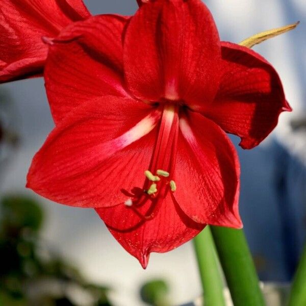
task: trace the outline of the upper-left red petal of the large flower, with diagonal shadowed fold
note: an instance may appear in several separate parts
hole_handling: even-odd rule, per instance
[[[44,77],[56,122],[89,98],[127,96],[122,87],[121,42],[126,20],[94,16],[71,24],[51,41]]]

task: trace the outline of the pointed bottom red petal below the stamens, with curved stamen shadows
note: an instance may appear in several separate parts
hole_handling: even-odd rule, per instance
[[[147,202],[141,212],[149,209]],[[96,209],[118,242],[146,268],[150,252],[167,252],[196,236],[205,224],[188,218],[170,193],[160,203],[154,217],[143,221],[124,205]]]

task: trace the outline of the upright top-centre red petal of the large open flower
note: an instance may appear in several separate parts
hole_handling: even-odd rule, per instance
[[[137,97],[209,103],[218,88],[220,41],[200,0],[157,0],[141,6],[127,26],[124,72]]]

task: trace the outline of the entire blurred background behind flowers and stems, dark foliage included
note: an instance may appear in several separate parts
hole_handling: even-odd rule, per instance
[[[135,0],[84,2],[92,14],[129,15],[137,9]],[[259,275],[263,281],[287,283],[306,236],[306,2],[205,3],[221,39],[232,42],[301,21],[296,30],[254,47],[281,75],[294,111],[281,115],[277,129],[259,147],[246,151],[237,146],[240,210]],[[32,290],[30,305],[41,305],[41,298],[53,305],[54,296],[56,305],[74,305],[71,292],[78,292],[84,305],[141,306],[143,299],[152,299],[146,293],[150,286],[167,295],[171,305],[200,295],[190,243],[151,254],[144,271],[93,210],[61,206],[25,189],[31,160],[53,126],[42,79],[0,85],[0,299],[8,290],[19,296],[20,304],[13,305],[23,306],[20,280],[32,288],[37,287],[34,278],[40,279],[43,296]],[[239,140],[232,139],[238,145]],[[155,282],[142,288],[141,299],[141,286],[151,280]]]

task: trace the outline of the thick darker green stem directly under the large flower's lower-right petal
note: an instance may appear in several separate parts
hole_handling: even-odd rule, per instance
[[[217,226],[211,231],[234,305],[265,305],[243,231]]]

